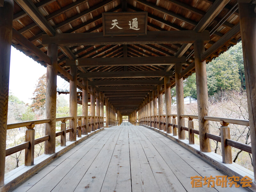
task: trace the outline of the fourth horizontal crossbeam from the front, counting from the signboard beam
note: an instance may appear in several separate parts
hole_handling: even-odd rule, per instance
[[[89,86],[91,85],[157,85],[164,84],[164,81],[159,81],[155,79],[139,79],[139,80],[117,80],[117,81],[90,81]]]

